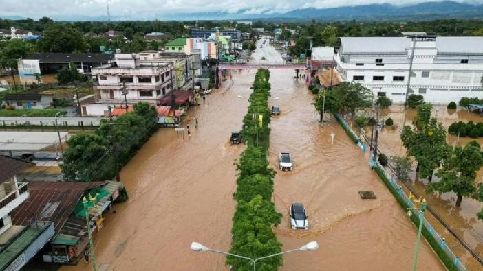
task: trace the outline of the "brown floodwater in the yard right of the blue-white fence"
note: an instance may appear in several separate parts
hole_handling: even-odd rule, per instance
[[[400,127],[402,127],[403,108],[401,105],[391,106],[389,109],[381,110],[382,119],[391,117],[396,124],[395,129],[384,129],[380,133],[379,146],[380,150],[385,154],[390,155],[405,155],[405,148],[400,141]],[[475,123],[482,122],[483,118],[479,114],[469,113],[467,110],[447,110],[446,106],[433,106],[432,117],[436,117],[442,123],[444,128],[449,128],[451,123],[455,121],[473,121]],[[411,125],[412,119],[416,116],[416,110],[408,110],[406,117],[406,125]],[[366,128],[370,136],[370,128]],[[447,136],[449,145],[466,145],[470,141],[476,140],[480,145],[483,143],[483,138],[471,139],[464,137],[457,139],[453,135]],[[416,165],[414,165],[415,167]],[[413,172],[412,178],[414,180],[415,174]],[[433,181],[438,181],[436,176]],[[483,182],[483,169],[477,172],[476,183]],[[427,195],[425,189],[427,187],[427,180],[420,180],[417,182],[407,182],[407,185],[412,187],[419,195],[425,196],[429,207],[437,213],[439,217],[449,224],[450,228],[464,240],[470,248],[472,248],[477,255],[483,257],[483,221],[477,219],[477,213],[483,209],[483,203],[473,200],[472,198],[464,198],[461,207],[455,207],[456,195],[455,193],[444,193],[439,195],[434,193]],[[451,247],[453,252],[460,257],[466,268],[469,270],[482,269],[479,263],[472,255],[467,252],[459,241],[457,241],[451,233],[449,233],[435,217],[428,214],[428,220],[433,224],[438,233],[447,239],[447,244]]]

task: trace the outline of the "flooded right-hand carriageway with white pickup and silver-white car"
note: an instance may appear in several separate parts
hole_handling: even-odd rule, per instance
[[[254,56],[280,61],[266,45]],[[275,204],[283,214],[275,231],[283,250],[308,241],[318,241],[320,248],[285,255],[281,270],[409,270],[416,228],[341,126],[333,121],[319,125],[312,94],[294,75],[270,71],[269,104],[281,109],[270,123],[270,165],[277,169],[279,152],[290,152],[294,159],[292,172],[277,170],[275,176]],[[336,134],[334,145],[331,132]],[[372,190],[378,198],[362,200],[359,190]],[[290,228],[288,209],[294,202],[308,211],[307,231]],[[418,270],[444,270],[422,244]]]

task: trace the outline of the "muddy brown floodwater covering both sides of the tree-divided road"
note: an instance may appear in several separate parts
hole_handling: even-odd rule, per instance
[[[272,47],[254,58],[280,60]],[[230,145],[241,128],[255,71],[234,74],[234,82],[208,95],[209,107],[197,107],[200,127],[191,122],[191,138],[177,139],[173,129],[156,132],[122,169],[130,198],[114,207],[96,237],[100,270],[228,270],[225,257],[193,252],[191,241],[230,248],[235,211],[235,166],[244,145]],[[270,104],[281,108],[272,119],[270,164],[277,153],[291,152],[293,172],[278,172],[274,200],[283,213],[275,228],[283,249],[318,241],[314,252],[284,256],[281,270],[409,270],[416,228],[397,205],[356,146],[336,123],[317,122],[312,95],[294,71],[271,71]],[[276,99],[279,97],[279,99]],[[193,112],[191,112],[193,113]],[[336,133],[330,145],[330,132]],[[361,200],[358,190],[373,190],[376,200]],[[288,206],[302,202],[311,228],[292,231]],[[84,260],[61,270],[89,270]],[[444,270],[422,241],[418,270]]]

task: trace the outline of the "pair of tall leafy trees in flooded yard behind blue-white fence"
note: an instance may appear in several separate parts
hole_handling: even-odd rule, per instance
[[[416,178],[429,181],[427,193],[454,192],[457,207],[461,206],[463,197],[483,200],[483,187],[475,184],[476,172],[483,166],[480,144],[474,141],[464,148],[451,148],[446,141],[446,130],[431,117],[432,108],[431,104],[419,105],[414,127],[405,126],[401,134],[408,156],[416,160]],[[433,175],[440,180],[432,182]]]

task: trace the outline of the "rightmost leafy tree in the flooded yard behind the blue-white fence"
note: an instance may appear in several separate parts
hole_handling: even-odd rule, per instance
[[[463,197],[473,196],[477,191],[475,187],[476,172],[483,165],[480,149],[473,145],[464,148],[457,147],[451,151],[442,163],[442,168],[436,172],[439,182],[433,182],[427,188],[428,192],[456,193],[456,207],[461,206]]]

